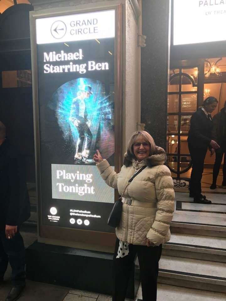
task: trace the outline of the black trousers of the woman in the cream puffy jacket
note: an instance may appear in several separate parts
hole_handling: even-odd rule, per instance
[[[138,255],[143,301],[156,301],[157,278],[159,273],[159,259],[162,245],[156,247],[129,245],[129,254],[123,258],[116,258],[119,240],[116,240],[114,254],[114,287],[112,301],[124,301],[129,277],[136,254]]]

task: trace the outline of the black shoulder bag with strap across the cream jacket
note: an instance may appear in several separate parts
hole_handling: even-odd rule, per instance
[[[114,207],[111,210],[111,213],[110,213],[109,218],[108,218],[108,225],[109,226],[116,228],[119,225],[119,222],[120,222],[120,219],[121,219],[121,212],[122,212],[122,197],[123,197],[123,194],[125,193],[126,188],[129,186],[129,184],[132,182],[132,180],[140,172],[142,172],[145,167],[147,167],[147,166],[143,166],[137,172],[135,172],[135,174],[132,176],[132,178],[126,184],[126,187],[124,188],[122,195],[120,196],[120,198],[118,199],[118,201],[115,203]]]

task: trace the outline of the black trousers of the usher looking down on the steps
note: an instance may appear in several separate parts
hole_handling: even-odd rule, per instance
[[[195,145],[188,144],[188,148],[192,162],[190,192],[194,194],[195,198],[199,198],[202,193],[201,180],[207,147],[196,148]]]

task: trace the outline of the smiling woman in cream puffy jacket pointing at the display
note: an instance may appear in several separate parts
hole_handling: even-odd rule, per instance
[[[128,180],[141,167],[123,195],[121,221],[116,228],[113,301],[124,301],[131,267],[138,255],[143,301],[154,301],[162,243],[170,240],[174,212],[173,180],[164,165],[166,153],[145,131],[135,132],[128,142],[124,165],[116,173],[100,152],[94,161],[101,177],[122,194]]]

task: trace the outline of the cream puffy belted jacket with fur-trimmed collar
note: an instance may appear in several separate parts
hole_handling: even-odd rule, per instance
[[[146,245],[148,238],[159,246],[170,240],[170,222],[175,208],[173,180],[169,168],[163,165],[166,161],[165,151],[158,147],[158,154],[141,162],[133,160],[131,166],[123,165],[118,174],[106,160],[97,164],[97,167],[107,185],[117,188],[122,194],[134,172],[147,165],[147,161],[151,167],[147,166],[126,188],[116,236],[133,245]]]

